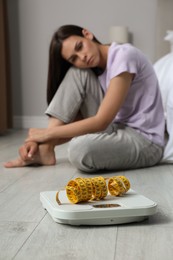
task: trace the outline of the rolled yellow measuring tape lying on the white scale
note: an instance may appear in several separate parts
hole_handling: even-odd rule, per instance
[[[106,180],[108,180],[108,184]],[[112,196],[121,196],[129,189],[130,182],[125,176],[76,178],[70,180],[65,187],[67,198],[73,204],[90,200],[101,200],[107,196],[108,191]],[[59,192],[56,193],[56,201],[61,205]]]

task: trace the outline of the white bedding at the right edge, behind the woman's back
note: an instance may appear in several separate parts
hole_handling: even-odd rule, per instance
[[[160,85],[168,133],[162,162],[173,163],[173,52],[158,60],[154,69]]]

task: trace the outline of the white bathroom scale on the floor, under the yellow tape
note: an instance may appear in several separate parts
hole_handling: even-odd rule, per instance
[[[57,191],[40,193],[40,201],[54,221],[69,225],[116,225],[139,222],[157,211],[157,204],[130,189],[121,197],[108,195],[104,200],[72,204],[66,191],[59,193],[61,205],[56,202]]]

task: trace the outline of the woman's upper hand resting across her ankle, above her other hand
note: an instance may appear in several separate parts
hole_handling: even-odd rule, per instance
[[[50,129],[47,128],[31,128],[28,132],[26,142],[45,143],[51,139]]]

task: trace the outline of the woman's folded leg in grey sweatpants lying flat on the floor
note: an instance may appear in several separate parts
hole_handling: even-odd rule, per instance
[[[76,168],[94,172],[153,166],[163,149],[130,127],[112,124],[105,133],[73,138],[68,152]]]

